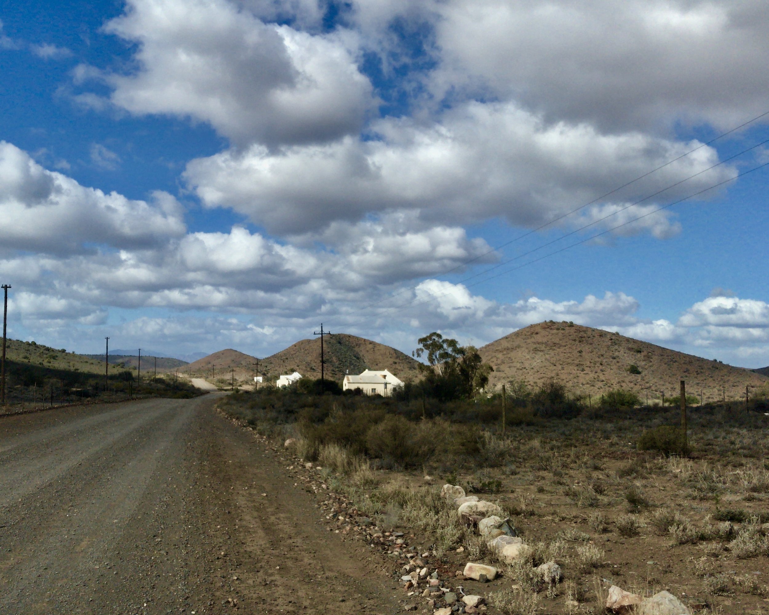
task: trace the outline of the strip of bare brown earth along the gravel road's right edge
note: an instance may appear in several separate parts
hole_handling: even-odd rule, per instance
[[[202,444],[208,504],[223,513],[217,529],[228,539],[218,583],[223,603],[244,613],[402,609],[381,560],[328,532],[318,497],[286,469],[277,447],[220,417]]]

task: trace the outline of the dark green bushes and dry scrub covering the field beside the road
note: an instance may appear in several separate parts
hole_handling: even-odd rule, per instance
[[[690,407],[684,440],[677,407],[639,406],[626,391],[591,404],[556,381],[511,381],[503,402],[466,376],[444,386],[440,377],[457,378],[461,357],[456,371],[434,371],[393,397],[265,387],[220,406],[288,440],[378,527],[428,536],[449,569],[499,567],[510,584],[490,597],[498,612],[603,613],[610,584],[644,596],[669,588],[705,613],[763,607],[764,401]],[[445,483],[499,504],[530,547],[524,561],[491,553],[440,497]],[[563,570],[559,583],[532,572],[551,560]]]

